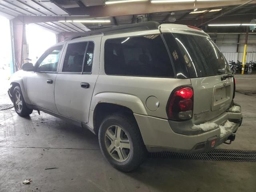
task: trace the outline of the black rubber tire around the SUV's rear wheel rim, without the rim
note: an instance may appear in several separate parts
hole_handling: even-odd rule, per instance
[[[108,152],[106,146],[106,132],[111,126],[115,125],[122,128],[130,142],[129,155],[123,162],[115,160]],[[112,114],[110,116],[106,116],[100,125],[98,139],[100,150],[106,160],[108,160],[108,162],[116,169],[123,172],[130,172],[138,168],[146,158],[147,150],[142,140],[140,130],[136,120],[130,114]]]

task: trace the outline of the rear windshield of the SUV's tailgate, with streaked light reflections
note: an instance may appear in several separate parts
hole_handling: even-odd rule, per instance
[[[188,34],[166,35],[174,36],[190,78],[230,73],[228,62],[212,40]]]

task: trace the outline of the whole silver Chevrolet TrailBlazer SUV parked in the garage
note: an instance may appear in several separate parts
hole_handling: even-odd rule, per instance
[[[147,152],[202,153],[242,123],[235,80],[202,30],[145,22],[79,34],[12,76],[20,116],[38,110],[98,135],[104,157],[130,171]]]

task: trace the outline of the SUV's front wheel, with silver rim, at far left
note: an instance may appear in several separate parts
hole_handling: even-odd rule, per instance
[[[12,97],[14,109],[19,116],[28,116],[33,112],[32,109],[27,107],[19,86],[14,88]]]

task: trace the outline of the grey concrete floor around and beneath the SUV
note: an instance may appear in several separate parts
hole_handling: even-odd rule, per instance
[[[238,90],[256,92],[256,75],[237,76]],[[0,103],[10,102],[2,81]],[[231,145],[256,150],[256,98],[236,93],[244,122]],[[45,170],[45,168],[58,167]],[[31,184],[22,184],[31,178]],[[63,120],[34,112],[0,111],[0,192],[256,191],[256,163],[148,158],[132,173],[104,160],[97,137]]]

